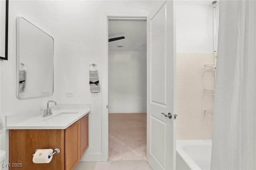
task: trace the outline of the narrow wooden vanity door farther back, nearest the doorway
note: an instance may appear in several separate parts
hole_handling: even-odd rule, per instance
[[[84,155],[84,152],[89,146],[88,143],[88,117],[85,115],[80,119],[80,158]]]

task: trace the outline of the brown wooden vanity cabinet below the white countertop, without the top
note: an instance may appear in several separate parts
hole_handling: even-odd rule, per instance
[[[88,115],[66,129],[10,129],[9,170],[73,170],[88,148]],[[60,148],[49,164],[35,164],[36,148]]]

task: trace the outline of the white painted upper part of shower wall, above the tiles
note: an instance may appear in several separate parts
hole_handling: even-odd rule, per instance
[[[218,33],[218,4],[216,28]],[[214,51],[213,5],[210,0],[177,1],[177,52],[210,53]],[[218,37],[218,34],[217,34]]]

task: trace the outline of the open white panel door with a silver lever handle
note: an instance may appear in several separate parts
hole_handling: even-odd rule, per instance
[[[157,170],[176,169],[174,12],[161,1],[147,17],[147,160]]]

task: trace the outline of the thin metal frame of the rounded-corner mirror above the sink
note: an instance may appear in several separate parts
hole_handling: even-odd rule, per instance
[[[23,17],[17,17],[17,18],[23,18]],[[16,35],[17,35],[17,18],[16,18]],[[26,20],[25,18],[23,18],[24,20]],[[27,22],[29,22],[28,20],[26,20]],[[31,22],[29,22],[30,24],[32,24]],[[34,24],[32,24],[33,26],[35,26]],[[35,26],[36,28],[38,28],[37,26]],[[38,28],[39,30],[41,30],[40,28]],[[43,30],[41,30],[42,32],[44,32]],[[45,34],[47,34],[46,32],[44,32]],[[47,34],[48,36],[50,36],[49,34]],[[20,97],[19,95],[19,67],[20,67],[20,45],[19,45],[19,37],[16,36],[16,97],[18,99],[31,99],[31,98],[38,98],[38,97],[49,97],[52,96],[54,93],[54,38],[52,36],[50,36],[52,38],[53,41],[53,58],[52,58],[52,63],[53,63],[53,68],[52,68],[52,94],[50,95],[45,95],[45,96],[32,96],[32,97]]]

